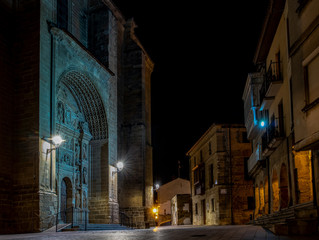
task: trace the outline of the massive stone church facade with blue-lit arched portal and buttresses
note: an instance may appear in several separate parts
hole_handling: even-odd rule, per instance
[[[0,5],[0,232],[43,231],[70,208],[152,224],[154,64],[134,21],[110,0]]]

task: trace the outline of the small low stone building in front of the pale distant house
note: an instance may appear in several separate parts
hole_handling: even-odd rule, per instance
[[[172,225],[192,224],[192,201],[190,194],[177,194],[171,200]]]

